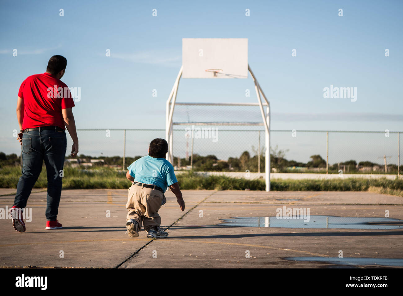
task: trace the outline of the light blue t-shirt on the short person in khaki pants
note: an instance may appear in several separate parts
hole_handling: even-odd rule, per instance
[[[165,158],[146,155],[133,162],[127,170],[135,182],[159,186],[164,193],[168,186],[178,182],[174,167]]]

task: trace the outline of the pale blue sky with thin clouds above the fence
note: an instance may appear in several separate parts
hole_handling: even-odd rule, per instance
[[[19,86],[54,54],[68,60],[62,81],[81,87],[77,128],[164,128],[184,37],[248,38],[272,129],[402,131],[402,15],[401,1],[2,1],[0,151],[18,153]],[[330,85],[357,87],[357,101],[324,99]],[[217,98],[257,101],[250,76],[181,80],[177,101]]]

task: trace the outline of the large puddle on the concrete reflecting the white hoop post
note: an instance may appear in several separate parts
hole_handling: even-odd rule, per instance
[[[378,217],[310,215],[309,221],[303,217],[299,219],[278,219],[278,217],[231,217],[220,220],[223,223],[218,225],[241,227],[403,229],[403,220]],[[399,226],[397,224],[402,225]]]

